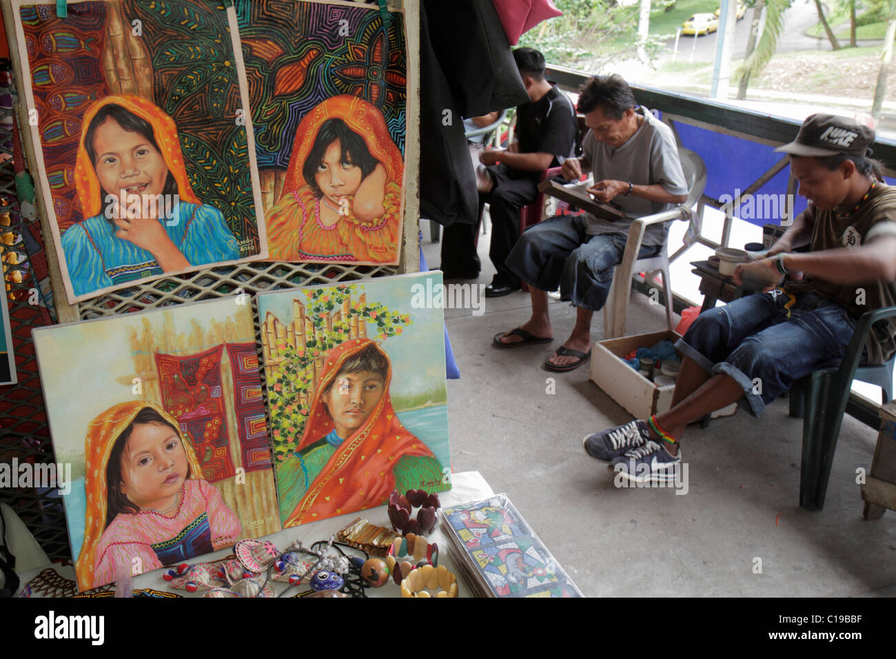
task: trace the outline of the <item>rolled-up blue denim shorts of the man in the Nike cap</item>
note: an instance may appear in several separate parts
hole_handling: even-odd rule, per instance
[[[856,321],[814,293],[754,293],[704,311],[676,348],[711,374],[744,389],[754,416],[801,377],[836,366]]]

